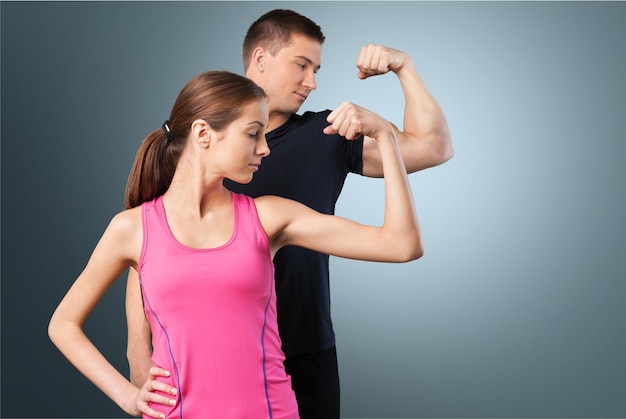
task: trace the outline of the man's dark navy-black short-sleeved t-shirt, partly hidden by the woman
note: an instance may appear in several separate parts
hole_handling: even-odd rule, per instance
[[[278,195],[316,211],[334,214],[348,173],[363,171],[363,138],[326,135],[329,110],[292,115],[266,135],[270,148],[252,182],[226,180],[234,192],[252,197]],[[274,258],[278,327],[286,355],[335,344],[330,318],[328,255],[286,246]]]

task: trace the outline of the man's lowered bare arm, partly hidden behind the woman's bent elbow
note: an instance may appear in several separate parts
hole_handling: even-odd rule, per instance
[[[133,268],[128,270],[126,284],[126,323],[128,343],[126,356],[130,367],[130,381],[137,387],[148,380],[152,366],[152,334],[150,324],[143,311],[143,299],[139,286],[139,275]]]

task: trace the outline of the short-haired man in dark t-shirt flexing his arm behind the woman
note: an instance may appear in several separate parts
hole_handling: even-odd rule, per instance
[[[267,141],[271,153],[247,185],[228,182],[235,192],[253,197],[279,195],[320,212],[334,213],[348,173],[381,177],[375,141],[358,126],[337,122],[339,135],[322,132],[330,111],[297,112],[316,89],[324,35],[310,19],[290,10],[273,10],[248,30],[243,45],[246,76],[269,97]],[[394,126],[408,172],[442,164],[453,155],[445,116],[422,82],[410,57],[379,45],[364,47],[357,59],[358,77],[393,72],[405,97],[404,127]],[[351,103],[352,112],[361,108]],[[245,263],[245,261],[242,261]],[[298,247],[281,249],[274,258],[278,322],[285,367],[291,375],[302,419],[339,418],[339,374],[330,315],[329,259]],[[163,390],[150,369],[150,330],[141,306],[136,273],[129,276],[127,315],[131,378],[148,391]],[[145,388],[145,387],[144,387]],[[169,389],[166,389],[169,390]],[[156,393],[149,400],[166,403]],[[146,405],[145,411],[150,412]]]

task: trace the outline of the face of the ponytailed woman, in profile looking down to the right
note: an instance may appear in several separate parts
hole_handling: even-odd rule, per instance
[[[270,153],[265,140],[268,123],[266,100],[255,100],[243,107],[214,144],[215,162],[222,175],[237,183],[248,183]]]

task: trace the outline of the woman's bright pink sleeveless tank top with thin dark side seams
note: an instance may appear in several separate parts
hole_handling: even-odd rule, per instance
[[[176,240],[161,197],[142,205],[139,275],[152,362],[178,388],[174,407],[152,407],[178,419],[297,419],[269,243],[254,200],[234,193],[232,200],[232,236],[211,249]]]

